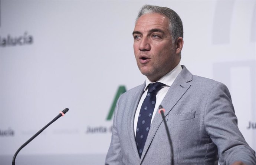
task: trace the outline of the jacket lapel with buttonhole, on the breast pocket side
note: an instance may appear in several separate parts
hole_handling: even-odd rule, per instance
[[[192,81],[192,74],[186,69],[185,66],[183,66],[183,70],[181,73],[177,76],[174,83],[171,85],[170,89],[168,90],[167,94],[165,95],[163,101],[161,102],[161,105],[165,109],[165,117],[170,113],[170,111],[173,109],[175,104],[181,99],[181,97],[186,93],[186,91],[190,88],[190,81]],[[157,106],[157,105],[156,105]],[[150,131],[148,132],[147,141],[145,143],[140,164],[142,163],[145,154],[148,151],[148,148],[150,147],[150,144],[157,132],[157,129],[159,128],[160,124],[163,122],[163,119],[160,114],[155,114],[155,117],[152,121]]]

